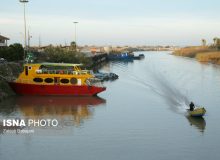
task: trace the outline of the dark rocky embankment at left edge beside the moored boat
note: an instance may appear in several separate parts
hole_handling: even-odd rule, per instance
[[[15,93],[7,83],[7,79],[17,78],[22,70],[22,65],[19,63],[9,62],[0,63],[0,102]]]

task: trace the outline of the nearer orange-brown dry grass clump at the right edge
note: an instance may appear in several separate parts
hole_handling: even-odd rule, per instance
[[[220,51],[198,53],[196,59],[200,62],[211,62],[215,64],[220,64]]]

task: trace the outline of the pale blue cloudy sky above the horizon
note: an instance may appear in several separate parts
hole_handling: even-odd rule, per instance
[[[31,45],[200,45],[220,37],[219,0],[29,0]],[[0,34],[24,43],[23,4],[1,0]]]

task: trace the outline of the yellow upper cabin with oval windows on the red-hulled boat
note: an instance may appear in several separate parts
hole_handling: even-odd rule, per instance
[[[80,66],[82,64],[25,64],[24,70],[16,82],[51,85],[87,85],[87,80],[94,76],[89,70],[82,70]]]

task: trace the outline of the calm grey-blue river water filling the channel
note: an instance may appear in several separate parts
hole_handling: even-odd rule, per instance
[[[56,119],[59,125],[26,128],[34,133],[0,127],[0,159],[220,159],[220,67],[169,52],[139,53],[145,59],[101,68],[119,79],[105,82],[99,97],[2,102],[1,121]],[[187,116],[191,101],[206,108],[204,118]]]

